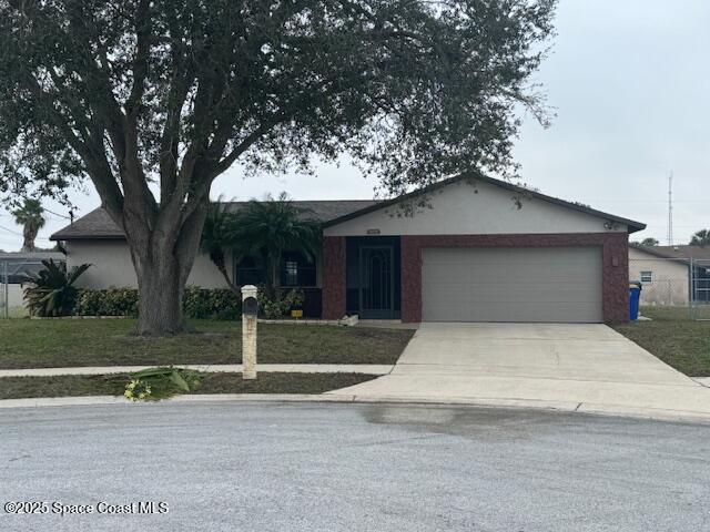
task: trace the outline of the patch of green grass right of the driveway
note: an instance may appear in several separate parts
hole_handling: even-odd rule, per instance
[[[690,377],[710,377],[710,321],[691,321],[688,309],[642,307],[652,321],[633,321],[615,329]]]

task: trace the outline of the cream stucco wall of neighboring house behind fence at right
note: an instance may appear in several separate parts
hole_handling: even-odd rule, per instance
[[[643,283],[641,305],[689,304],[690,273],[682,260],[661,258],[629,247],[629,279],[640,280],[641,272],[651,272],[651,283]]]

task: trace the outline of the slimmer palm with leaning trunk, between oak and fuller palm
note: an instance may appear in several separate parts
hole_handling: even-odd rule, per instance
[[[226,270],[225,258],[226,253],[235,247],[235,227],[236,216],[226,209],[222,196],[220,196],[216,202],[210,204],[204,228],[202,229],[200,247],[217,267],[226,282],[226,286],[239,295],[240,289],[234,285]]]

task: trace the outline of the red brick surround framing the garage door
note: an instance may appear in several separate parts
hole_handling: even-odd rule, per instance
[[[602,248],[604,320],[607,324],[628,321],[629,235],[626,233],[402,236],[402,321],[422,320],[422,248],[424,247],[569,246]]]

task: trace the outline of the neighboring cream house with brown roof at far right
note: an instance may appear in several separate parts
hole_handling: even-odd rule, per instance
[[[631,245],[629,278],[641,282],[641,305],[710,303],[710,247]]]

